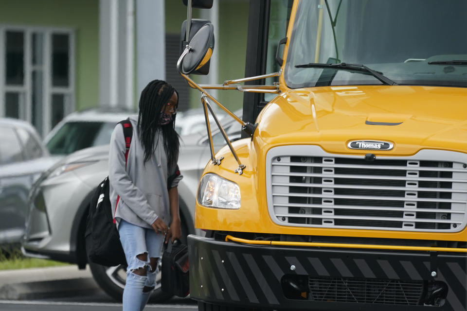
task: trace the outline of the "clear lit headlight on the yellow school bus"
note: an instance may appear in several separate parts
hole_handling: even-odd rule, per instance
[[[234,182],[209,173],[198,188],[198,203],[205,207],[240,208],[240,188]]]

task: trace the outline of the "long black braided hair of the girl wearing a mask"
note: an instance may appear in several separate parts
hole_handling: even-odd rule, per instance
[[[153,80],[141,92],[138,115],[138,137],[144,147],[144,164],[151,158],[159,143],[159,135],[155,141],[158,131],[162,131],[165,153],[167,154],[169,168],[175,167],[179,157],[180,141],[175,131],[175,116],[168,124],[159,124],[161,112],[177,90],[162,80]],[[178,105],[178,102],[177,102]]]

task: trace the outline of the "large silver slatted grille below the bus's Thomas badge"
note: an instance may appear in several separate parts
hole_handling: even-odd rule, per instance
[[[289,155],[269,161],[269,213],[281,225],[445,232],[466,225],[466,163]]]

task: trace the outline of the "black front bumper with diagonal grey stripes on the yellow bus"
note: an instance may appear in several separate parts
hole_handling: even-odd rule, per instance
[[[466,310],[465,254],[252,246],[194,235],[188,247],[190,297],[203,302],[282,310]],[[448,285],[444,304],[419,305],[427,284],[438,282]],[[308,293],[290,294],[290,284]]]

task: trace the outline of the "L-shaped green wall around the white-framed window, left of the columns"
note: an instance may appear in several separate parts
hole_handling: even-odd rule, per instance
[[[75,32],[75,109],[99,104],[99,1],[0,0],[0,23]]]

